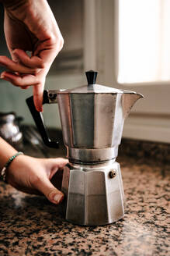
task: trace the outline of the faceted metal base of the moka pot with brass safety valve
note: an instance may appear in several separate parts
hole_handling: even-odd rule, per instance
[[[65,219],[82,226],[116,222],[124,216],[120,164],[115,159],[64,167],[61,190],[66,197]]]

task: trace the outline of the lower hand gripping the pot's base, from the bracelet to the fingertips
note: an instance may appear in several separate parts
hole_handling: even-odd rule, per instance
[[[68,160],[64,158],[45,159],[19,155],[6,170],[6,180],[17,190],[29,194],[43,193],[50,202],[59,204],[64,194],[50,180],[67,163]]]

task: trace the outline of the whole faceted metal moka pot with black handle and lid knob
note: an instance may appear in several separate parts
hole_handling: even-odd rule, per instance
[[[123,218],[124,192],[116,162],[124,119],[143,96],[95,84],[97,73],[86,72],[88,85],[71,90],[44,91],[43,104],[58,103],[68,165],[61,190],[65,218],[79,225],[105,225]],[[44,144],[57,148],[36,112],[33,97],[26,100]]]

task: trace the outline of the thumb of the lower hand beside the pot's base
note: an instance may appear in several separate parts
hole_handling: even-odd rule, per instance
[[[43,179],[41,178],[36,181],[35,187],[37,190],[42,192],[51,203],[60,204],[64,199],[64,194],[60,190],[57,190],[52,183],[50,183],[47,176],[44,176]]]

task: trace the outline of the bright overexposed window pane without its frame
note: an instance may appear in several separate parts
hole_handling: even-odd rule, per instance
[[[118,83],[170,80],[170,1],[119,0]]]

